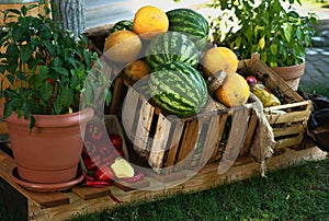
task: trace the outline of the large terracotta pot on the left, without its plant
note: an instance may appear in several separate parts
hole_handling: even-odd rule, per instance
[[[35,126],[12,114],[8,119],[20,178],[42,184],[69,182],[76,178],[83,147],[86,124],[93,109],[65,115],[34,115]]]

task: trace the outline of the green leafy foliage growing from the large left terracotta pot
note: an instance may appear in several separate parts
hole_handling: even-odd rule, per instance
[[[44,13],[29,15],[36,7],[42,7]],[[110,82],[102,73],[98,55],[88,48],[87,37],[81,35],[77,40],[60,22],[52,19],[52,12],[58,14],[55,4],[50,10],[41,3],[1,12],[4,118],[15,112],[18,117],[33,121],[33,114],[67,114],[92,106],[97,98],[111,101]],[[3,86],[5,79],[10,86]]]

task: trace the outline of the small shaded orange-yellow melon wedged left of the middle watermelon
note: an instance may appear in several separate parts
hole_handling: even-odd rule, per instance
[[[149,69],[146,61],[134,60],[124,68],[124,74],[133,81],[138,81],[149,74]]]

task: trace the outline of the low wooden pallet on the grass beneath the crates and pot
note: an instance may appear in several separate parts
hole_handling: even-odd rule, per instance
[[[283,149],[281,149],[282,151]],[[291,164],[307,160],[320,160],[326,158],[326,152],[317,147],[304,150],[284,149],[266,161],[268,170],[285,167]],[[144,181],[136,184],[136,189],[123,186],[102,188],[83,187],[76,185],[69,190],[59,193],[36,193],[26,190],[11,178],[11,171],[15,167],[14,160],[4,151],[0,151],[0,197],[4,200],[8,210],[21,214],[27,220],[65,220],[71,216],[91,213],[111,209],[118,205],[112,197],[128,203],[133,201],[149,201],[159,197],[170,196],[177,193],[193,193],[211,189],[224,183],[246,179],[259,174],[260,164],[252,162],[248,156],[239,158],[235,164],[224,174],[218,174],[218,163],[205,165],[196,175],[180,185],[169,188],[156,189],[159,178],[157,174],[147,174]],[[189,174],[189,172],[182,172]],[[145,185],[146,184],[146,185]],[[138,186],[139,185],[139,186]],[[144,185],[144,186],[143,186]],[[143,190],[143,187],[146,187]],[[140,189],[141,188],[141,189]],[[155,189],[155,190],[148,190]]]

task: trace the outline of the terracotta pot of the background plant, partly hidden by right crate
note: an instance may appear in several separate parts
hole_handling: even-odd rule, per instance
[[[305,72],[305,61],[296,66],[272,68],[294,91],[297,91],[300,77]]]

